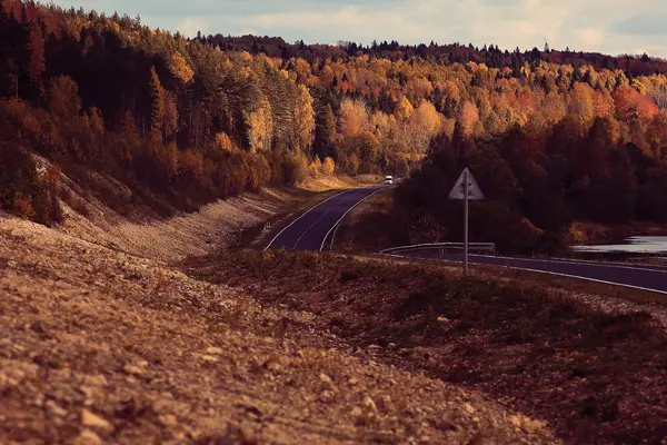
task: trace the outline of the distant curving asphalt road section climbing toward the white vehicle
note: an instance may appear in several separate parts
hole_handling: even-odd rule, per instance
[[[387,186],[346,190],[312,207],[273,238],[267,249],[320,251],[345,215],[369,196]]]

